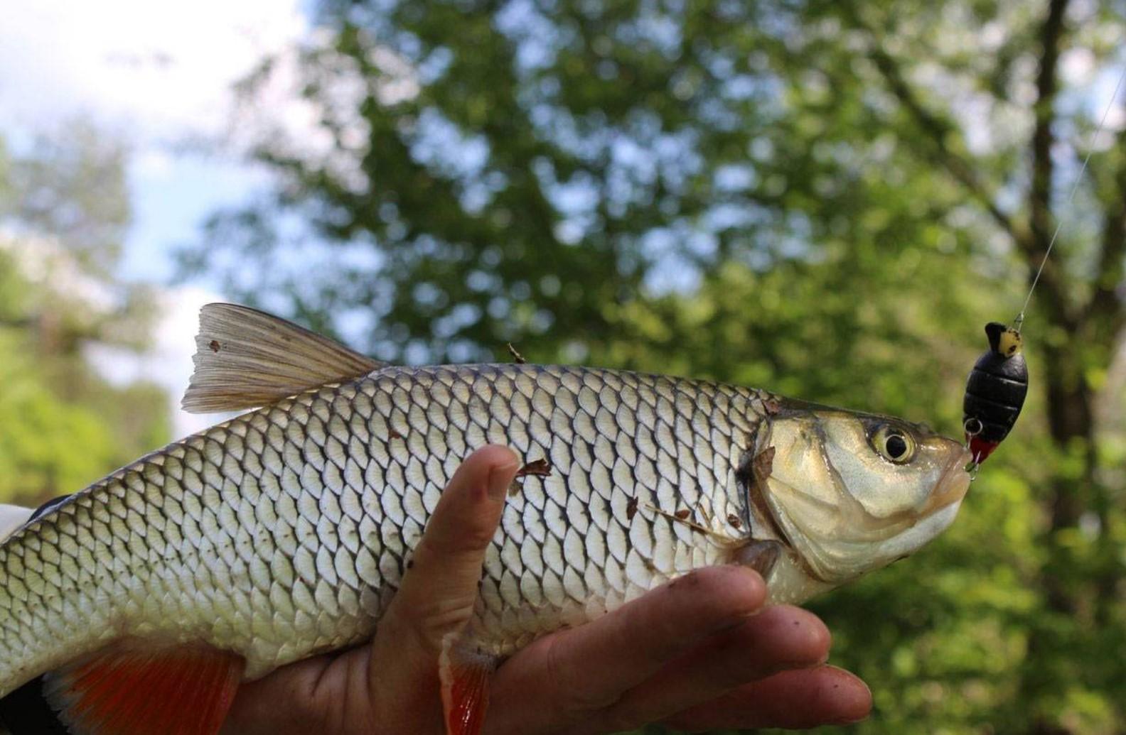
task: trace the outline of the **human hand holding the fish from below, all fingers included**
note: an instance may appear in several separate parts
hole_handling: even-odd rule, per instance
[[[438,654],[470,619],[519,463],[475,451],[427,525],[370,645],[240,688],[227,735],[440,735]],[[867,715],[864,682],[824,665],[830,636],[799,608],[763,609],[736,566],[699,570],[588,625],[545,636],[492,676],[484,735],[587,735],[662,721],[686,730],[813,727]]]

